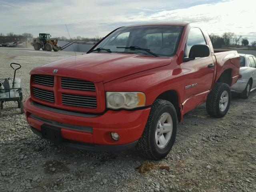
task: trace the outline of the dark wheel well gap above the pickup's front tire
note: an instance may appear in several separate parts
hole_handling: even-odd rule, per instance
[[[161,93],[156,99],[163,99],[171,102],[175,107],[178,119],[180,119],[180,107],[179,107],[178,95],[176,91],[168,90],[166,92]]]

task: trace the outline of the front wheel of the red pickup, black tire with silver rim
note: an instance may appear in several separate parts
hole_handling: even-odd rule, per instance
[[[172,103],[157,99],[136,149],[144,157],[160,160],[168,155],[176,138],[177,114]]]

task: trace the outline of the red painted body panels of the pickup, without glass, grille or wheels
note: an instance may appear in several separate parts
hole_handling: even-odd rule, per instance
[[[58,94],[55,96],[55,103],[37,99],[33,96],[33,93],[26,98],[24,111],[28,123],[38,130],[41,129],[40,126],[43,123],[30,117],[30,114],[34,114],[55,122],[92,127],[92,132],[62,128],[62,137],[69,140],[104,145],[128,144],[141,137],[150,112],[150,105],[160,94],[169,90],[176,92],[180,107],[180,121],[182,121],[183,114],[206,101],[206,97],[214,83],[225,70],[231,70],[230,86],[236,82],[240,66],[240,58],[236,51],[214,53],[208,34],[203,32],[210,47],[210,56],[183,62],[182,56],[188,32],[194,26],[185,23],[157,25],[184,26],[177,52],[171,58],[102,52],[58,60],[43,67],[34,68],[30,72],[31,75],[43,74],[52,76],[52,71],[56,68],[58,73],[54,74],[54,87],[34,84],[31,81],[31,90],[32,87],[37,87],[44,90],[52,90]],[[208,68],[210,63],[214,63],[214,68]],[[60,77],[94,82],[96,91],[63,89],[60,86]],[[185,86],[194,83],[197,83],[197,86],[185,89]],[[106,109],[106,91],[144,92],[147,107],[132,111],[108,110]],[[65,106],[61,102],[61,93],[96,96],[97,107]],[[80,117],[59,114],[32,106],[31,102],[63,110],[98,114],[98,116]],[[112,131],[120,134],[120,140],[114,141],[111,139],[110,132]]]

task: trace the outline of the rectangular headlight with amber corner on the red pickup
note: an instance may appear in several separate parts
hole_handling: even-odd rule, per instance
[[[146,96],[142,92],[106,92],[107,108],[133,109],[146,104]]]

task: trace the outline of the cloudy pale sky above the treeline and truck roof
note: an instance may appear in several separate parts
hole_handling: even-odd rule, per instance
[[[256,40],[255,0],[0,0],[0,32],[105,36],[145,22],[196,22],[208,33]]]

